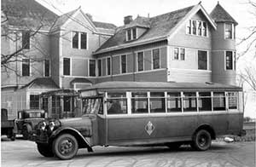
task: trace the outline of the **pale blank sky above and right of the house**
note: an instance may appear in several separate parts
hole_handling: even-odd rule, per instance
[[[137,15],[153,17],[159,14],[172,12],[200,3],[199,0],[37,0],[56,14],[65,14],[73,9],[81,9],[92,15],[93,20],[113,23],[116,26],[124,25],[124,17]],[[252,0],[256,2],[256,0]],[[236,26],[236,42],[248,35],[247,27],[256,25],[255,8],[248,4],[248,0],[203,0],[201,5],[210,14],[212,9],[220,3],[222,7],[238,22]],[[236,53],[242,52],[247,43],[238,45]],[[255,47],[237,61],[237,71],[245,66],[256,66]],[[256,118],[256,95],[247,100],[246,116]],[[253,108],[253,110],[251,109]]]

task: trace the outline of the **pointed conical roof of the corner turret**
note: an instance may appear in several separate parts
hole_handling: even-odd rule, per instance
[[[210,14],[215,22],[232,22],[238,25],[235,19],[218,3]]]

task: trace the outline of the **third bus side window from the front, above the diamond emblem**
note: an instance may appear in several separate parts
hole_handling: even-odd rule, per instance
[[[150,92],[150,112],[166,112],[164,92]]]

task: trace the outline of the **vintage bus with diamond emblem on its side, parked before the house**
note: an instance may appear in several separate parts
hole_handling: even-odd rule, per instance
[[[79,91],[81,118],[38,124],[38,152],[73,158],[79,148],[190,144],[242,135],[242,89],[219,83],[106,82]]]

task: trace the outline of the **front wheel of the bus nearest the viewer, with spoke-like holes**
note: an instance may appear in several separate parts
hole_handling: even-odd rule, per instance
[[[57,158],[66,160],[73,158],[79,150],[77,139],[73,135],[59,135],[53,143],[53,151]]]

